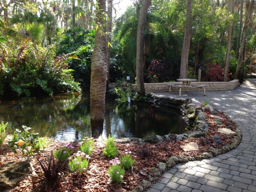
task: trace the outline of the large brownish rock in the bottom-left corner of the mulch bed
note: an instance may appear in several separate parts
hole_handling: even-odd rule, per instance
[[[26,176],[14,172],[30,173],[30,164],[25,162],[8,162],[0,166],[0,190],[8,189]]]

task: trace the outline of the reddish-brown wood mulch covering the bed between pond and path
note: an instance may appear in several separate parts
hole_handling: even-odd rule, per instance
[[[62,192],[127,192],[132,190],[136,185],[140,184],[143,179],[147,180],[147,175],[150,175],[151,168],[155,167],[159,162],[166,162],[166,160],[171,156],[178,156],[180,154],[185,154],[188,157],[196,157],[201,155],[203,152],[207,152],[210,146],[214,148],[222,148],[226,144],[232,143],[232,138],[236,134],[220,134],[217,132],[218,128],[229,128],[235,131],[236,126],[233,122],[230,122],[230,119],[226,118],[224,114],[218,112],[218,116],[224,118],[221,125],[216,125],[216,121],[210,114],[206,113],[207,121],[209,123],[209,130],[206,133],[204,145],[202,144],[202,138],[189,138],[182,141],[164,141],[160,144],[135,144],[135,143],[116,143],[118,147],[119,157],[126,152],[126,150],[131,151],[131,157],[135,158],[135,163],[133,168],[126,170],[124,180],[121,184],[114,184],[110,181],[110,177],[107,173],[110,166],[110,160],[112,158],[106,158],[102,152],[104,150],[105,144],[104,141],[97,141],[96,146],[94,147],[93,153],[90,155],[89,166],[87,172],[84,173],[72,173],[68,174],[65,178],[60,180],[58,189],[52,187],[43,186],[37,191],[62,191]],[[222,144],[215,144],[213,136],[216,134],[223,137]],[[6,140],[7,141],[7,140]],[[199,150],[185,152],[180,145],[186,145],[189,142],[196,142],[199,146]],[[45,154],[50,155],[51,151],[54,151],[61,146],[67,144],[66,142],[54,140],[50,145],[40,154],[37,154],[40,160],[46,158]],[[69,145],[75,147],[74,152],[79,148],[77,142],[71,142]],[[149,156],[142,156],[142,151],[147,151]],[[21,157],[21,153],[14,154],[8,144],[4,143],[0,146],[0,166],[6,164],[7,162],[18,162],[24,160]],[[42,173],[42,169],[37,163],[36,158],[32,158],[32,164],[35,167],[37,173]],[[68,168],[66,168],[68,172]],[[155,178],[155,181],[158,181],[158,178]],[[15,192],[28,192],[33,190],[36,186],[40,184],[33,181],[31,177],[26,177],[22,181],[18,182],[13,188]]]

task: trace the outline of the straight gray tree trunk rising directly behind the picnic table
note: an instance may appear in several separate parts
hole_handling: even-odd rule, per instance
[[[181,79],[188,77],[188,55],[189,55],[189,47],[190,47],[190,40],[191,40],[191,32],[190,32],[191,5],[192,5],[192,0],[188,0],[187,11],[186,11],[185,32],[184,32],[184,42],[183,42],[183,48],[181,52],[181,61],[180,61],[180,78]]]

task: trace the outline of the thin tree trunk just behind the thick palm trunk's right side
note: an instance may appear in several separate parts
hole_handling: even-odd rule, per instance
[[[109,83],[109,68],[110,68],[110,53],[111,53],[111,35],[112,35],[112,6],[113,0],[108,0],[108,29],[107,29],[107,64],[108,64],[108,73],[107,73],[107,82],[106,89],[108,90]],[[110,44],[109,44],[110,43]]]

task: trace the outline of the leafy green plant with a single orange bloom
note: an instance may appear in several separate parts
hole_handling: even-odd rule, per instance
[[[26,156],[29,159],[30,156],[36,152],[39,134],[32,133],[30,127],[23,125],[22,128],[23,130],[15,130],[12,135],[12,140],[8,141],[8,144],[14,153],[17,153],[17,149],[20,149],[23,156]]]

